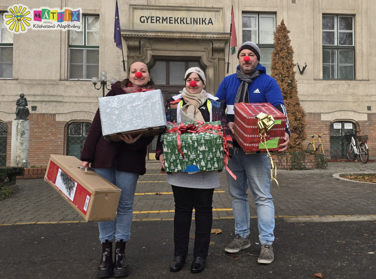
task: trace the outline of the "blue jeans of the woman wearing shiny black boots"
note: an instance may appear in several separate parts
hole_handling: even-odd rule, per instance
[[[139,174],[127,173],[115,170],[115,162],[112,168],[93,168],[100,176],[121,189],[120,200],[117,207],[115,220],[98,222],[99,240],[123,240],[127,242],[130,237],[130,225],[133,218],[133,198]]]

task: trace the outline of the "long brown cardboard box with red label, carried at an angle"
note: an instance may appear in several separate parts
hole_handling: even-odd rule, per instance
[[[51,155],[44,180],[86,221],[114,220],[121,190],[74,156]]]

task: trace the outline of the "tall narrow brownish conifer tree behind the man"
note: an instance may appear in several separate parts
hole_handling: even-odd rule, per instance
[[[290,143],[288,152],[303,150],[303,141],[307,135],[305,133],[304,111],[299,102],[298,87],[295,79],[293,61],[294,50],[290,45],[290,33],[284,20],[277,26],[274,32],[274,52],[271,55],[271,76],[277,80],[282,91],[282,96],[287,109],[290,121]]]

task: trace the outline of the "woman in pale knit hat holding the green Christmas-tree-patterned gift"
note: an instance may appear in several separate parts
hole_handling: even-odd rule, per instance
[[[223,101],[205,91],[206,79],[199,67],[189,68],[184,77],[183,93],[167,101],[167,121],[197,122],[221,121],[232,157],[232,138],[227,126]],[[164,168],[164,154],[161,135],[158,138],[156,159]],[[227,163],[227,162],[226,162]],[[214,188],[220,186],[217,172],[199,172],[194,174],[167,174],[166,181],[171,184],[174,193],[174,258],[170,271],[182,269],[188,255],[189,233],[193,208],[195,209],[195,239],[193,249],[192,273],[204,270],[208,256],[212,226],[212,200]]]

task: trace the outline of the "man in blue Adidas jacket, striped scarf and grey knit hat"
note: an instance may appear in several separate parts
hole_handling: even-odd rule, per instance
[[[265,67],[259,64],[260,50],[254,42],[244,42],[238,51],[239,66],[236,74],[227,76],[221,82],[215,97],[225,100],[229,128],[233,133],[234,103],[271,103],[287,116],[282,92],[273,77],[266,74]],[[231,122],[232,121],[232,122]],[[278,152],[287,149],[290,138],[288,126],[285,142],[280,144]],[[266,153],[246,155],[237,141],[233,140],[234,152],[228,167],[237,180],[226,172],[229,194],[232,196],[232,210],[235,218],[235,238],[224,249],[236,253],[251,245],[249,240],[249,203],[247,190],[250,187],[257,205],[257,221],[261,253],[259,263],[270,264],[274,260],[274,205],[270,194],[270,159]]]

